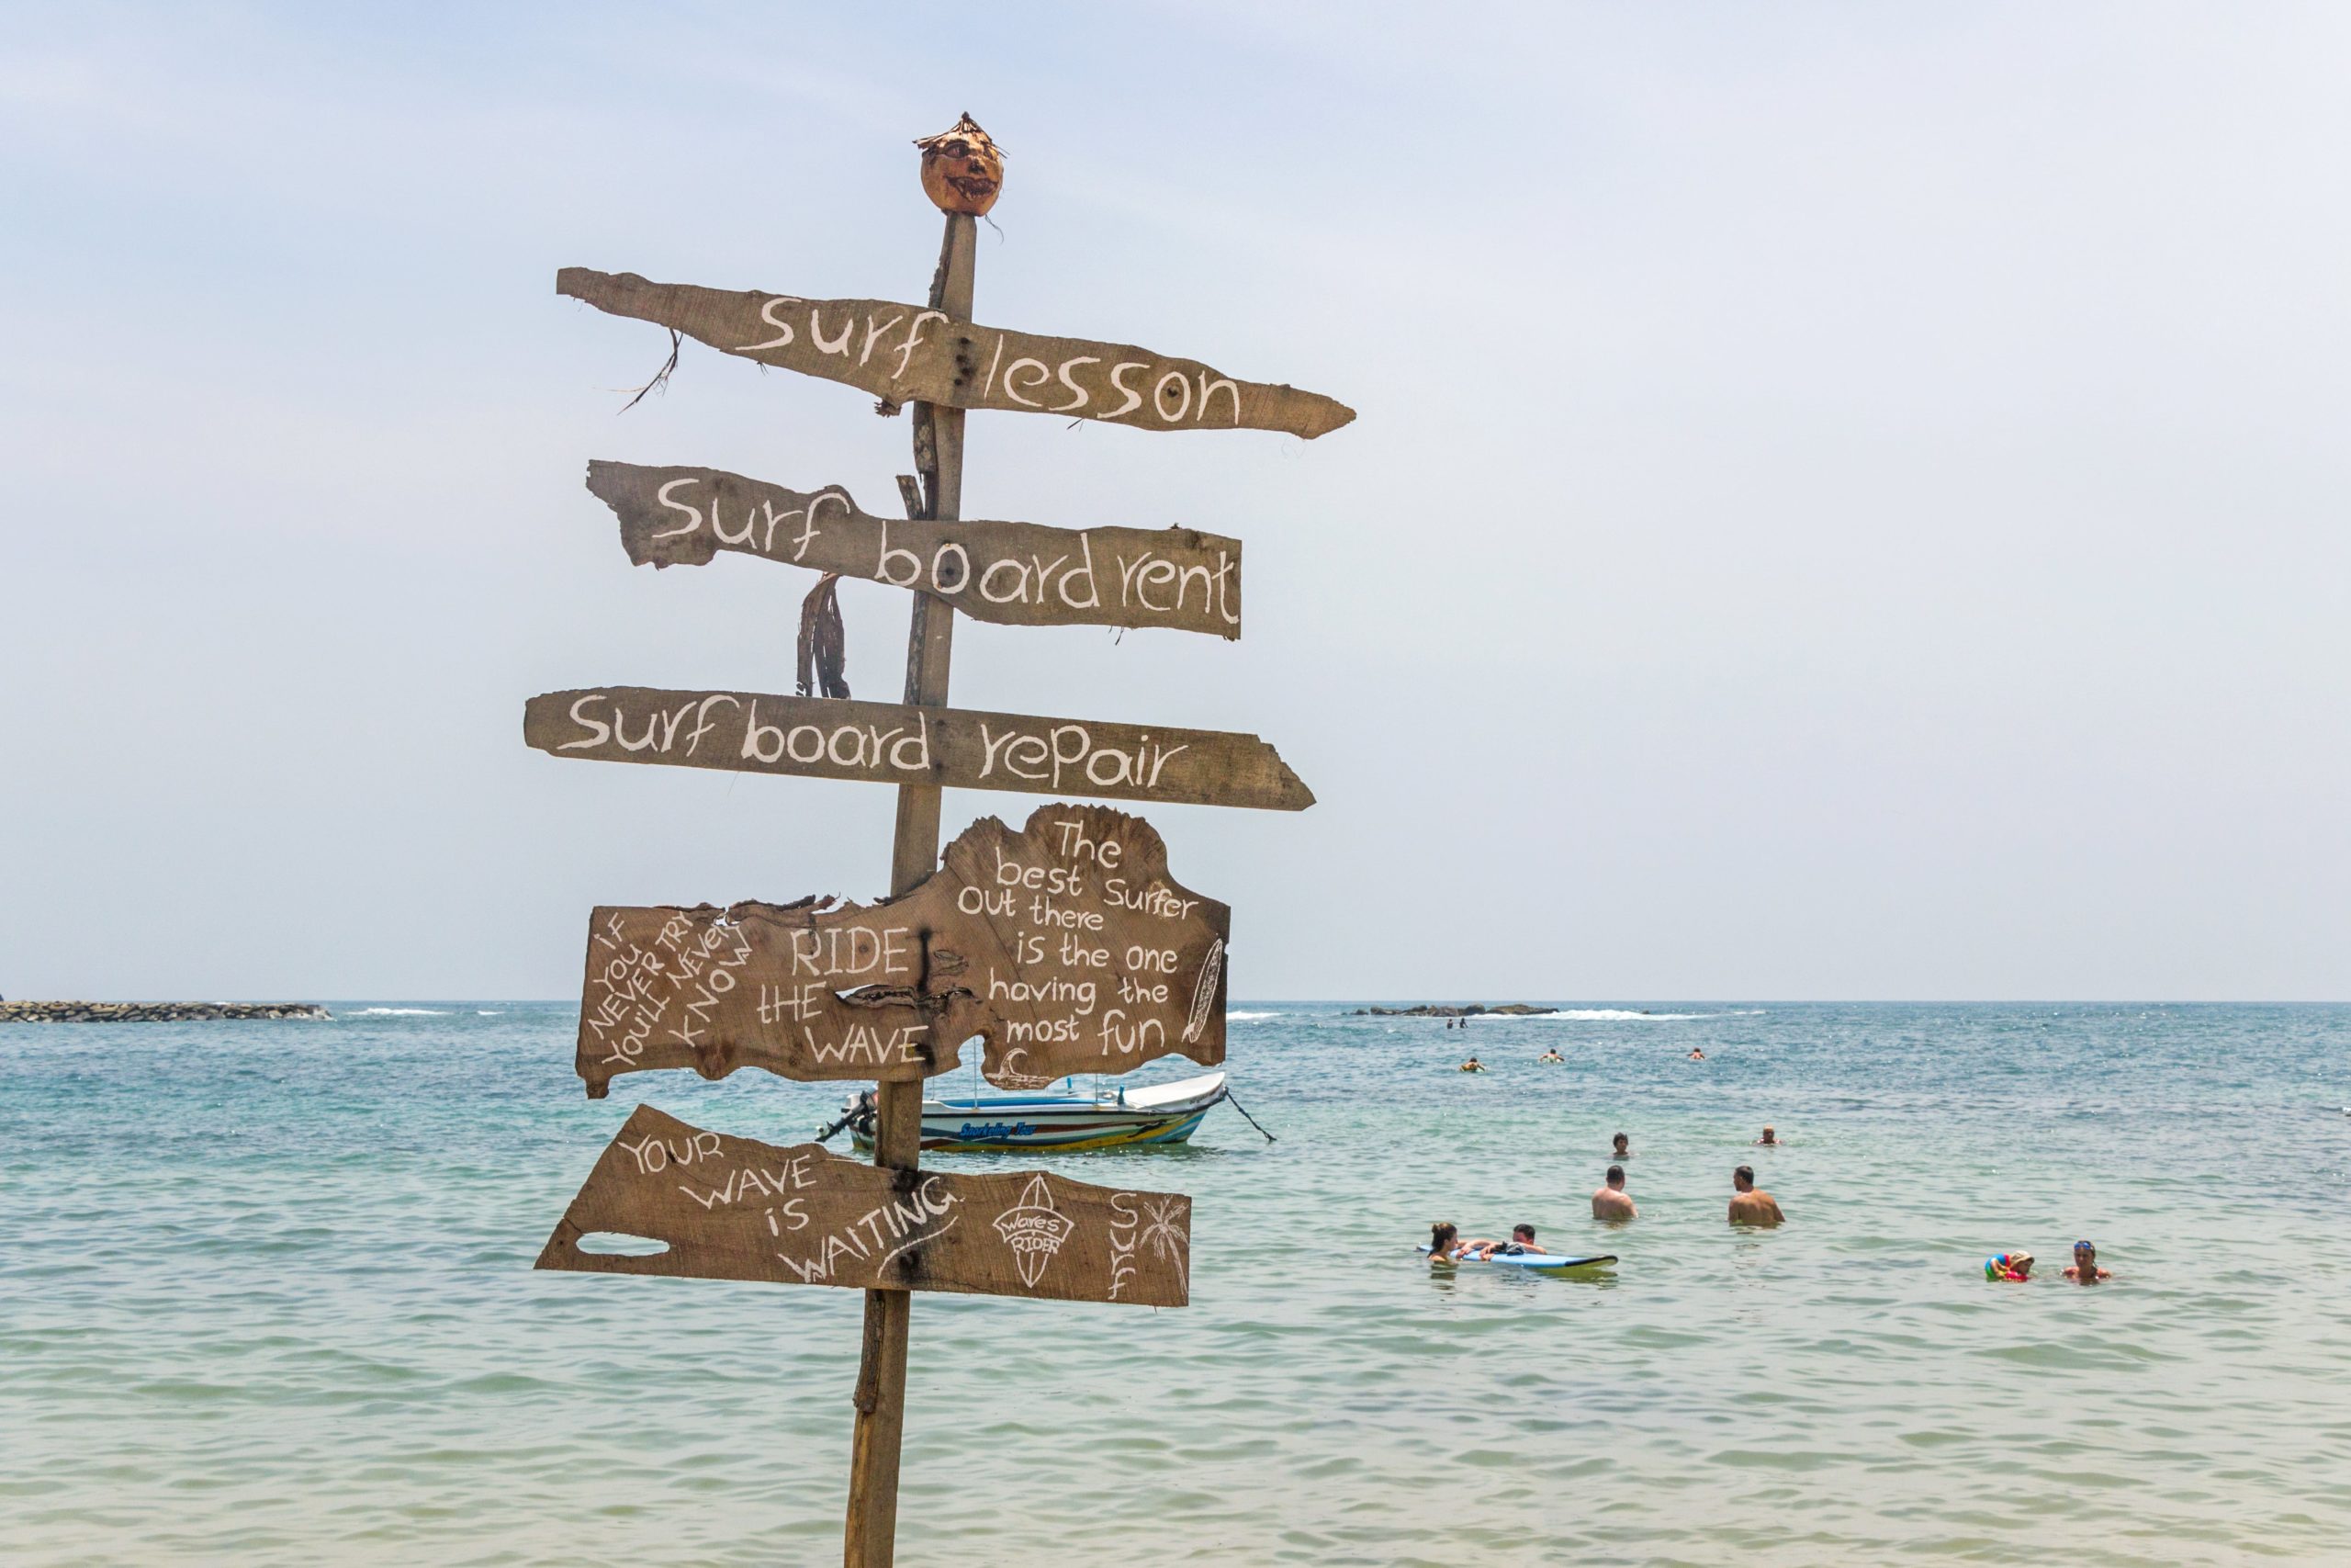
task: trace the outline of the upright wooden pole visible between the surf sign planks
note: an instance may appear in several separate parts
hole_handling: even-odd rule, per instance
[[[931,308],[971,320],[971,270],[978,223],[947,214],[947,233],[931,277]],[[915,404],[915,470],[922,508],[933,522],[964,512],[964,411]],[[955,609],[915,595],[915,625],[905,644],[905,701],[947,703],[947,658]],[[938,870],[938,790],[898,785],[898,835],[891,844],[889,891],[896,898]],[[875,1086],[875,1164],[912,1171],[922,1159],[922,1084]],[[842,1533],[846,1568],[891,1568],[898,1552],[898,1443],[905,1434],[907,1291],[865,1293],[865,1352],[858,1361],[856,1434],[849,1448],[849,1526]]]

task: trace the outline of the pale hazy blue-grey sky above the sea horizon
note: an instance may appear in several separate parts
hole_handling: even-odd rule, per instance
[[[886,512],[910,421],[691,343],[618,414],[668,339],[552,277],[919,296],[969,108],[980,320],[1359,409],[971,416],[966,515],[1248,545],[1239,644],[955,642],[1317,790],[1150,813],[1234,997],[2351,997],[2346,80],[2339,5],[9,5],[0,992],[879,893],[884,788],[520,717],[792,682],[811,578],[628,567],[588,458]]]

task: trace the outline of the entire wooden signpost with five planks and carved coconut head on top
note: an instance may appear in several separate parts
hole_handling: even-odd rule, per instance
[[[865,1291],[851,1396],[851,1568],[884,1568],[898,1519],[912,1291],[1180,1307],[1192,1201],[1041,1171],[922,1171],[922,1084],[980,1041],[994,1084],[1225,1058],[1230,910],[1168,875],[1150,823],[1053,804],[983,818],[938,853],[940,790],[1016,790],[1300,811],[1314,795],[1255,736],[947,708],[955,614],[1006,625],[1241,632],[1241,545],[1192,529],[962,522],[964,411],[1143,430],[1326,435],[1354,411],[1124,343],[971,322],[973,216],[1002,153],[966,115],[919,143],[947,214],[926,306],[811,301],[564,268],[557,292],[731,355],[912,404],[907,517],[842,487],[792,491],[712,468],[590,463],[632,562],[719,550],[912,592],[905,696],[592,686],[531,698],[524,741],[555,757],[898,785],[889,898],[600,907],[581,990],[578,1072],[764,1067],[875,1081],[872,1166],[783,1150],[639,1105],[538,1267],[832,1284]],[[614,1246],[609,1239],[623,1239]],[[632,1241],[628,1241],[632,1239]],[[649,1248],[649,1251],[647,1251]]]

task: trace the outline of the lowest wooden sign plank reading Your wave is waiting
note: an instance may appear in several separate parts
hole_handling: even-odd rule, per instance
[[[581,1251],[595,1234],[668,1248]],[[816,1143],[785,1150],[708,1133],[639,1105],[538,1267],[1183,1307],[1192,1199],[1044,1171],[891,1171]]]

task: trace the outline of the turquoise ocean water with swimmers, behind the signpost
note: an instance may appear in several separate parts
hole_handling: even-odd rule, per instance
[[[1279,1143],[1030,1161],[1190,1192],[1192,1305],[917,1295],[900,1561],[2351,1561],[2351,1009],[1578,1006],[1237,1004]],[[637,1098],[839,1088],[336,1013],[0,1027],[0,1559],[839,1561],[853,1291],[529,1267]],[[1439,1218],[1622,1262],[1441,1276]],[[1982,1279],[2076,1237],[2109,1286]]]

